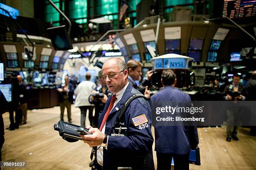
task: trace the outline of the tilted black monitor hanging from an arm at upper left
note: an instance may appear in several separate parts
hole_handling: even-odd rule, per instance
[[[67,29],[65,25],[59,27],[52,27],[46,29],[51,43],[54,46],[54,50],[71,50],[73,49],[69,35],[67,34]]]

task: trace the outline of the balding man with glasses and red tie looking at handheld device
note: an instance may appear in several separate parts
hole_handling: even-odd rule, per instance
[[[108,97],[99,116],[98,128],[88,126],[93,134],[80,135],[84,143],[97,150],[97,161],[94,161],[92,169],[117,170],[118,167],[131,167],[132,170],[154,170],[151,151],[154,139],[148,101],[141,97],[132,100],[115,130],[112,127],[122,106],[131,95],[139,92],[128,83],[127,65],[123,60],[107,60],[102,72],[102,79],[113,95]]]

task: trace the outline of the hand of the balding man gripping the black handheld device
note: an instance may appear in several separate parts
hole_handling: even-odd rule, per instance
[[[90,145],[90,147],[101,145],[105,135],[100,132],[98,128],[92,128],[90,125],[88,125],[86,128],[89,129],[89,132],[92,133],[92,135],[80,134],[80,137],[82,138],[84,143],[87,143],[88,145]]]

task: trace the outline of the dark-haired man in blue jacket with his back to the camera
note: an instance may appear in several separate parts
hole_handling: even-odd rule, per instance
[[[176,75],[172,70],[164,70],[161,75],[164,89],[151,96],[150,104],[176,103],[172,107],[190,107],[191,100],[187,93],[174,88]],[[156,114],[156,112],[152,112]],[[154,117],[154,116],[153,116]],[[189,169],[189,152],[196,148],[198,135],[196,126],[154,126],[156,140],[157,169],[170,170],[172,158],[175,170]]]

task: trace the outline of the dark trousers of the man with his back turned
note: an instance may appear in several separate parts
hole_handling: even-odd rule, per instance
[[[177,155],[171,153],[156,153],[157,170],[170,170],[172,158],[174,160],[174,170],[189,170],[189,153]]]

